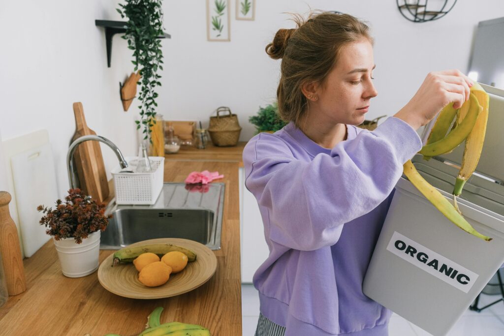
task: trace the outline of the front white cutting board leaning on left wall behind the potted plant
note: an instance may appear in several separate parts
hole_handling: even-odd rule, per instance
[[[37,206],[54,208],[58,196],[51,145],[14,155],[11,168],[23,250],[30,257],[50,238],[45,226],[39,224],[43,214],[37,211]]]

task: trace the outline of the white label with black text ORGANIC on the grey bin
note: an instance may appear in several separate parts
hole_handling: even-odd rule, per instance
[[[392,235],[387,250],[464,293],[469,292],[478,279],[476,273],[397,231]]]

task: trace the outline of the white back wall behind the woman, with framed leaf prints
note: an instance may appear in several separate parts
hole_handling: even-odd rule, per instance
[[[459,1],[446,17],[422,24],[403,18],[395,1],[259,0],[255,21],[231,19],[231,42],[206,42],[202,3],[165,5],[165,26],[173,33],[166,57],[175,66],[166,74],[171,77],[169,92],[160,101],[169,111],[165,114],[201,118],[207,124],[216,107],[229,106],[240,116],[241,140],[254,134],[248,116],[275,99],[280,60],[271,59],[264,49],[279,28],[294,27],[286,12],[337,10],[368,21],[375,38],[374,78],[379,91],[368,119],[397,112],[429,71],[466,72],[478,22],[504,16],[501,0]],[[234,14],[235,0],[230,3]]]

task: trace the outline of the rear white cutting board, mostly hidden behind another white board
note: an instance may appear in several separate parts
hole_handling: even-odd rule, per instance
[[[4,175],[7,177],[7,188],[5,188],[12,196],[9,210],[11,217],[16,223],[21,247],[23,247],[22,232],[19,225],[18,208],[16,203],[16,190],[14,190],[14,181],[11,170],[11,158],[14,155],[20,154],[27,150],[36,148],[40,145],[49,143],[49,133],[45,129],[37,130],[26,135],[2,141],[2,154],[5,161]],[[4,189],[4,187],[3,187]],[[24,257],[24,250],[21,248],[21,253]]]

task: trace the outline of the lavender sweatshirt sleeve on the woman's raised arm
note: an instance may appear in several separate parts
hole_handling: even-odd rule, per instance
[[[380,205],[421,147],[416,131],[395,117],[310,162],[296,159],[282,139],[260,134],[243,151],[245,186],[268,210],[271,240],[316,250],[334,245],[342,224]]]

